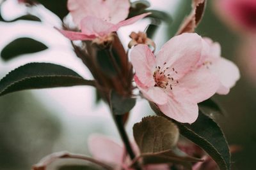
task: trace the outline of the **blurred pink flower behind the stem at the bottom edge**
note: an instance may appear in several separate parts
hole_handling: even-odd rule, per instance
[[[138,146],[135,143],[132,143],[132,146],[134,152],[136,152],[136,155],[138,155],[140,153]],[[93,134],[88,140],[88,147],[95,159],[113,165],[116,170],[133,170],[131,167],[129,167],[131,160],[125,152],[124,145],[116,143],[113,141],[113,139],[103,135]],[[154,169],[168,170],[168,166],[165,164],[159,164],[143,167],[143,170]]]

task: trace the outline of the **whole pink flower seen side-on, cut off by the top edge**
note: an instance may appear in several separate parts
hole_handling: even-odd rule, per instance
[[[59,31],[71,40],[105,38],[120,27],[133,24],[150,14],[143,13],[125,20],[130,5],[128,0],[68,0],[68,10],[81,32]]]

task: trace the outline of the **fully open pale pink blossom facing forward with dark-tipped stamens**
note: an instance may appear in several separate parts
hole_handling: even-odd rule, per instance
[[[132,48],[134,80],[149,101],[168,117],[193,123],[198,117],[197,103],[211,97],[220,80],[203,67],[208,46],[198,34],[184,33],[170,39],[156,57],[145,45]]]

